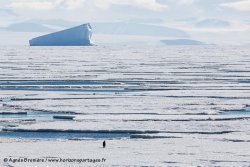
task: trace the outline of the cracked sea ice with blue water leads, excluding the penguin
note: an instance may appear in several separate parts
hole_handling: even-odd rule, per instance
[[[0,159],[105,159],[1,166],[249,167],[249,119],[247,47],[0,47]]]

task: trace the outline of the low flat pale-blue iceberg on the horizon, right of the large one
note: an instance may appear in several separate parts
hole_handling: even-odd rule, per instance
[[[201,41],[196,41],[192,39],[170,39],[170,40],[161,40],[162,43],[166,45],[205,45]]]

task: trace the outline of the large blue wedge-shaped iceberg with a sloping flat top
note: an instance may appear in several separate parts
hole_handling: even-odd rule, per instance
[[[90,46],[92,27],[89,23],[33,38],[30,46]]]

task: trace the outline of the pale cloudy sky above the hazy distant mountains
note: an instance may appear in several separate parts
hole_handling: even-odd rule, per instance
[[[32,19],[140,22],[247,40],[250,0],[0,0],[0,26]]]

